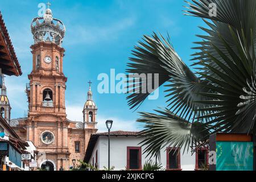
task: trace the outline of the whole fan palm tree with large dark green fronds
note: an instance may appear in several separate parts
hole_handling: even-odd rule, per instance
[[[135,46],[127,72],[158,73],[159,86],[166,86],[167,106],[154,113],[140,113],[144,152],[158,155],[159,149],[207,142],[209,134],[256,133],[256,1],[192,0],[185,15],[200,17],[207,35],[193,54],[192,67],[177,55],[170,38],[143,36]],[[217,16],[210,16],[210,3]],[[127,97],[131,109],[138,108],[152,93],[140,93],[150,82],[129,81],[135,92]],[[131,90],[129,90],[131,91]],[[184,151],[185,151],[184,150]]]

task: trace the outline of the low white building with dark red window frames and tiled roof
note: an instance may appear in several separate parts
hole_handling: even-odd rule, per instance
[[[141,170],[149,158],[143,154],[144,147],[141,147],[143,138],[138,132],[113,131],[110,133],[110,167],[115,171],[133,169]],[[163,148],[160,151],[163,169],[170,171],[193,171],[203,168],[208,164],[208,150],[204,149],[195,152],[181,152],[174,155],[170,148]],[[152,159],[155,162],[155,159]],[[92,164],[98,169],[108,167],[108,133],[92,134],[85,154],[85,163]],[[158,162],[159,163],[159,162]]]

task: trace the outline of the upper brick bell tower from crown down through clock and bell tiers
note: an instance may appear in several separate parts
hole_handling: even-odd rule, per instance
[[[43,18],[35,18],[31,24],[34,45],[31,46],[33,69],[30,79],[30,115],[55,112],[65,117],[65,82],[63,74],[65,35],[64,24],[46,10]]]

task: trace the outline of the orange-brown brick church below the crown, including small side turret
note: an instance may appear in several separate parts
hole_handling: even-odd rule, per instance
[[[90,135],[97,132],[97,107],[93,101],[87,101],[82,112],[84,118],[89,118],[90,113],[93,119],[85,119],[80,123],[69,121],[65,111],[67,78],[63,73],[64,48],[52,42],[40,42],[31,46],[31,49],[33,69],[28,75],[30,86],[26,90],[29,113],[27,118],[13,119],[18,121],[13,128],[20,138],[35,144],[39,151],[39,168],[48,161],[54,165],[55,170],[68,170],[73,166],[73,159],[76,159],[76,164],[84,159]],[[51,57],[51,63],[44,61],[46,56]],[[56,57],[59,58],[59,69],[56,69]],[[92,96],[92,91],[88,93]],[[47,94],[49,101],[46,101]],[[93,103],[93,106],[88,103]],[[43,142],[43,134],[46,132],[54,138],[51,143]],[[75,142],[80,143],[79,152],[75,151]]]

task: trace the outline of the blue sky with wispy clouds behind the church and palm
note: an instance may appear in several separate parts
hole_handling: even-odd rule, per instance
[[[47,1],[1,0],[0,10],[22,67],[20,77],[7,77],[7,95],[12,107],[11,118],[23,117],[27,110],[24,93],[27,75],[32,69],[30,32],[32,18],[38,16],[38,4]],[[99,94],[97,77],[100,73],[125,73],[131,50],[143,35],[152,31],[171,36],[176,52],[191,64],[195,50],[192,42],[200,40],[202,32],[197,26],[201,19],[183,15],[184,1],[177,0],[52,0],[53,17],[61,19],[67,28],[64,74],[68,77],[65,92],[68,118],[82,121],[82,108],[86,101],[89,80],[92,80],[94,101],[98,106],[98,127],[105,130],[105,120],[113,119],[113,130],[139,130],[137,111],[152,111],[166,106],[164,88],[158,100],[147,100],[137,110],[129,110],[125,94]]]

